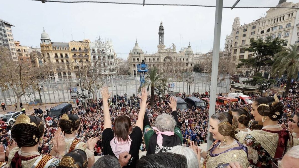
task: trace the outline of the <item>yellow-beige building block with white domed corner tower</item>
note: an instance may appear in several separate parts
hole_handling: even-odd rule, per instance
[[[43,64],[56,64],[56,68],[50,74],[51,79],[78,77],[78,65],[80,71],[89,67],[89,40],[51,42],[50,36],[44,30],[41,34],[40,49]]]

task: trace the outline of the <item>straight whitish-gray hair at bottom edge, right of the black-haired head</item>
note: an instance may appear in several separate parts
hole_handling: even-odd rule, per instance
[[[197,156],[192,149],[190,149],[186,146],[177,145],[177,146],[174,146],[169,152],[186,156],[188,168],[198,168],[199,167],[199,164],[198,164],[199,162],[198,162]]]

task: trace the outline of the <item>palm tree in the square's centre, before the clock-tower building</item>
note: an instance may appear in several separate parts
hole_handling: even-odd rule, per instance
[[[161,92],[163,90],[168,90],[168,86],[166,83],[167,79],[164,79],[162,77],[162,74],[158,74],[158,68],[156,66],[150,68],[150,71],[145,78],[143,87],[147,87],[147,91],[149,91],[149,88],[151,89],[151,106],[154,106],[155,88],[157,88],[158,90],[160,89]],[[140,88],[138,91],[140,91]]]

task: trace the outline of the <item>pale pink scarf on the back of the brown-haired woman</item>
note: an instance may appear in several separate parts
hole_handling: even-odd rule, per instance
[[[120,142],[117,140],[116,136],[110,141],[111,149],[114,153],[114,155],[119,158],[120,153],[122,152],[129,152],[131,147],[131,138],[130,135],[128,135],[129,140]]]

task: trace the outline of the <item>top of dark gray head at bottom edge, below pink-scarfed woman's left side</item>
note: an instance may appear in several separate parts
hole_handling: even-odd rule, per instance
[[[120,168],[117,158],[111,155],[100,157],[91,168]]]

